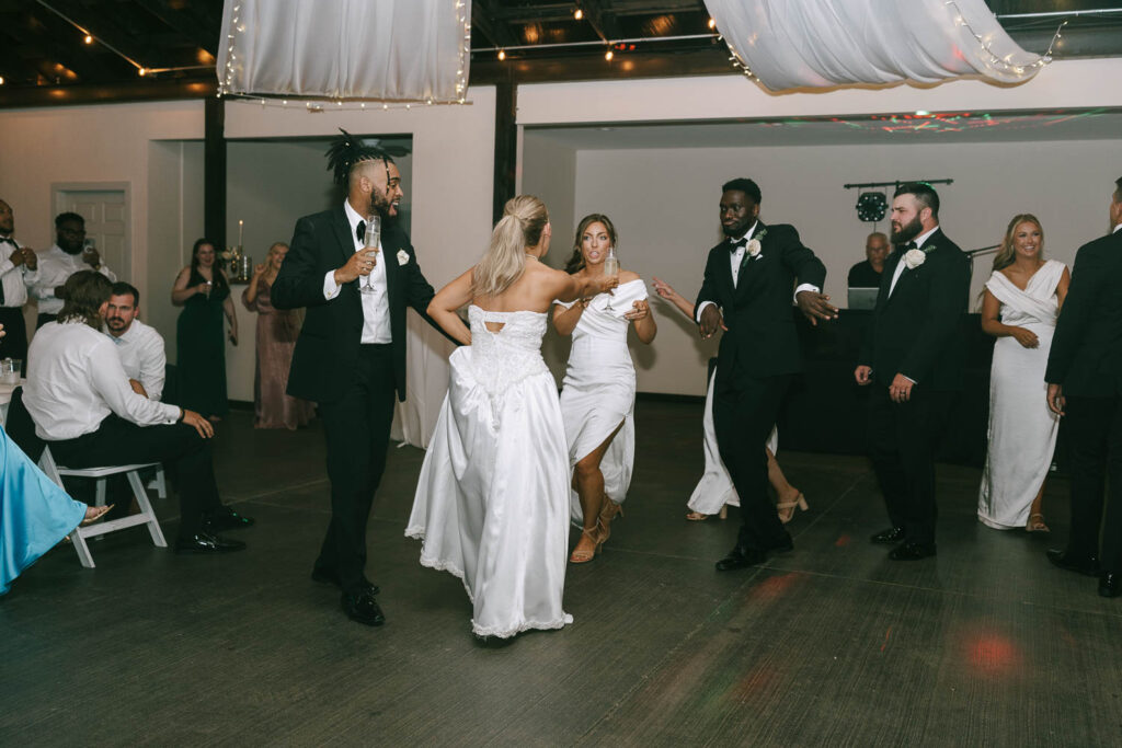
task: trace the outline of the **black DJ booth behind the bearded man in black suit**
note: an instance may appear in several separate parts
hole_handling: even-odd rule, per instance
[[[795,379],[780,412],[780,450],[867,454],[870,388],[857,386],[853,370],[873,312],[842,310],[836,321],[817,326],[797,308],[792,314],[806,371]],[[947,414],[939,460],[981,465],[986,451],[994,339],[982,332],[977,314],[963,315],[957,334],[966,341],[966,369],[963,390]],[[1042,386],[1040,398],[1042,401]]]

